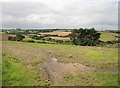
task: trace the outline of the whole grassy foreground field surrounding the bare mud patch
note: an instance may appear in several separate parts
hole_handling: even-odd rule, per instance
[[[3,85],[118,85],[117,48],[3,41],[2,56]],[[51,79],[48,70],[42,66],[53,58],[58,63],[64,63],[65,67],[69,66],[67,64],[80,63],[83,67],[94,69],[83,73],[81,69],[74,71],[76,68],[70,65],[72,72],[60,75],[60,81],[56,83],[54,79],[59,77],[52,76],[56,78]]]

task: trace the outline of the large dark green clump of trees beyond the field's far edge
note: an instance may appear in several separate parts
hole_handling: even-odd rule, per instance
[[[100,35],[94,28],[91,29],[74,29],[70,34],[70,39],[75,45],[95,46],[100,43]]]

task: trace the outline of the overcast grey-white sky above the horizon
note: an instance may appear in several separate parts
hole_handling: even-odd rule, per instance
[[[2,28],[118,29],[119,0],[2,0]]]

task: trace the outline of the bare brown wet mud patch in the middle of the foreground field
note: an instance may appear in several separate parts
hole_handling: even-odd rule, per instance
[[[84,72],[86,73],[94,70],[94,68],[87,67],[80,63],[60,63],[56,58],[44,62],[43,67],[45,68],[49,79],[55,84],[59,84],[67,73],[80,72],[81,74],[84,74]]]

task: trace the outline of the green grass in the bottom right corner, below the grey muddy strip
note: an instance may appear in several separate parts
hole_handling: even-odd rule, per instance
[[[117,72],[94,72],[90,76],[94,76],[101,86],[118,86]]]

